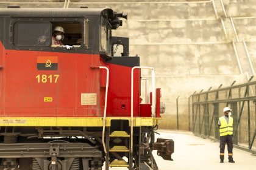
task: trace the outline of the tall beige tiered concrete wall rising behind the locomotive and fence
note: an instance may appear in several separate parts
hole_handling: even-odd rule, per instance
[[[254,72],[243,41],[252,66],[256,67],[255,0],[222,0],[225,10],[221,0],[214,3],[193,0],[9,2],[21,7],[110,7],[128,13],[128,20],[113,35],[129,36],[130,55],[141,56],[142,66],[155,67],[156,87],[162,88],[165,114],[176,114],[178,96],[179,112],[187,114],[188,97],[195,90],[216,89],[219,84],[229,86],[233,80],[236,84],[245,82]],[[0,7],[7,5],[10,4],[0,2]],[[150,76],[145,71],[143,75]]]

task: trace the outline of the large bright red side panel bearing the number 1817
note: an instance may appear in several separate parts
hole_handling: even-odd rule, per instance
[[[0,44],[0,115],[7,117],[101,117],[99,55],[5,50]],[[38,56],[57,58],[58,70],[37,70]],[[43,77],[46,75],[46,77]],[[56,77],[54,77],[56,75]],[[57,75],[59,77],[57,78]],[[56,80],[57,79],[57,80]],[[81,105],[81,94],[96,94],[96,105]],[[44,102],[51,97],[51,102]]]

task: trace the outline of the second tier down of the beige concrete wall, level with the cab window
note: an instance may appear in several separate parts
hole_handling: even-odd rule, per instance
[[[222,42],[221,23],[210,20],[137,20],[123,21],[124,27],[115,31],[116,36],[127,35],[131,44],[148,43],[191,43],[191,42]]]

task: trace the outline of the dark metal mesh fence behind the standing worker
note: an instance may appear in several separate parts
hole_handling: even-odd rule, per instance
[[[256,81],[207,92],[189,98],[190,131],[196,135],[219,139],[218,119],[229,106],[233,117],[233,144],[256,151]]]

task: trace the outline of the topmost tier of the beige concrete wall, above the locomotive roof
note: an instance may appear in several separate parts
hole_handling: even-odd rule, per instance
[[[214,18],[213,8],[210,8],[210,3],[191,4],[177,4],[166,1],[158,2],[99,2],[94,1],[85,3],[70,4],[69,7],[80,7],[87,5],[89,8],[97,7],[111,7],[116,11],[124,11],[129,13],[129,19],[193,19],[203,15],[205,18]],[[112,2],[112,3],[109,3]],[[175,15],[172,15],[175,14]]]

